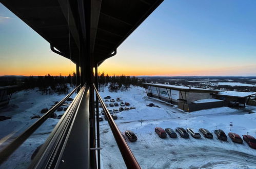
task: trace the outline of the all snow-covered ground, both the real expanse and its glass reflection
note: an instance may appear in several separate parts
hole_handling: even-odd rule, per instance
[[[195,130],[206,128],[212,133],[215,128],[223,129],[227,134],[230,131],[229,122],[233,122],[232,132],[241,137],[249,132],[249,135],[256,137],[256,113],[248,114],[248,110],[256,112],[256,107],[248,106],[240,110],[223,107],[185,113],[165,102],[147,97],[145,89],[140,87],[118,93],[110,93],[105,88],[100,94],[102,97],[110,95],[114,99],[120,97],[124,102],[129,102],[130,107],[136,108],[117,114],[115,122],[121,132],[132,130],[137,135],[136,142],[127,142],[142,168],[256,168],[256,150],[245,142],[236,144],[229,137],[227,142],[219,141],[214,134],[213,139],[194,139],[191,136],[183,139],[179,135],[175,139],[169,136],[161,139],[154,132],[156,126],[164,129],[181,126]],[[40,111],[43,108],[49,109],[64,96],[41,95],[36,90],[14,93],[8,107],[0,110],[1,115],[12,116],[12,119],[0,121],[0,148],[37,120],[31,120],[31,116],[42,116]],[[148,103],[161,108],[146,107]],[[111,109],[116,108],[119,107]],[[64,111],[55,113],[59,115]],[[1,168],[27,168],[30,156],[37,146],[44,143],[58,121],[48,119]],[[100,128],[104,168],[126,168],[107,121],[102,121]]]

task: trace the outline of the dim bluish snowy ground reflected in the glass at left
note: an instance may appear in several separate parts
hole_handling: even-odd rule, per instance
[[[70,89],[69,92],[71,92]],[[75,93],[71,98],[75,97]],[[55,101],[60,101],[65,95],[41,95],[37,89],[16,92],[7,107],[0,109],[1,116],[11,116],[11,119],[0,121],[0,149],[13,138],[25,131],[38,119],[34,115],[44,115],[41,110],[50,109]],[[68,101],[67,101],[68,102]],[[70,103],[70,102],[68,102]],[[64,106],[67,107],[67,106]],[[55,112],[57,115],[65,111]],[[36,147],[43,144],[59,120],[49,118],[27,139],[0,168],[27,168],[31,155]]]

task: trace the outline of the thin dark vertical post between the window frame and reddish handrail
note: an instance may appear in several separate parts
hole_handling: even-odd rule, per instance
[[[97,91],[99,91],[99,84],[98,84],[98,64],[95,65],[95,87]],[[96,121],[97,121],[97,147],[101,147],[100,142],[100,120],[99,120],[99,98],[96,97]],[[98,168],[101,169],[101,151],[100,149],[97,150],[97,162]]]

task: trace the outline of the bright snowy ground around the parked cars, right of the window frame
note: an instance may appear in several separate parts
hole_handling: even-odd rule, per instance
[[[142,168],[256,168],[256,150],[245,142],[233,143],[230,138],[227,142],[220,141],[214,134],[213,139],[183,139],[180,136],[161,139],[154,132],[156,126],[163,129],[181,126],[195,130],[206,128],[212,133],[217,128],[228,134],[229,124],[233,122],[232,132],[241,137],[249,132],[249,135],[256,137],[254,113],[227,107],[185,113],[165,102],[147,97],[145,90],[140,87],[118,93],[105,89],[100,94],[102,97],[110,95],[114,99],[119,97],[136,108],[117,114],[115,122],[121,132],[132,130],[137,135],[136,142],[127,142]],[[146,107],[151,102],[161,108]],[[256,110],[256,107],[250,106],[250,109]],[[102,121],[100,128],[104,168],[125,168],[107,121]]]

